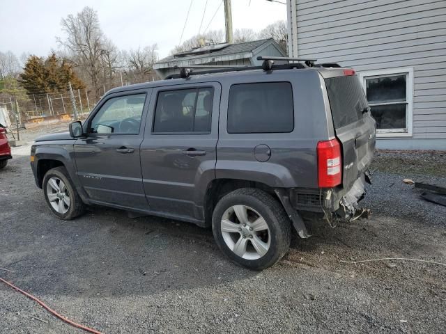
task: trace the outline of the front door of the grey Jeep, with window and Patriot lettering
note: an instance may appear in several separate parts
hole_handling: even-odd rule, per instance
[[[148,209],[139,146],[150,93],[110,95],[86,120],[87,136],[77,139],[75,159],[79,180],[93,202]]]

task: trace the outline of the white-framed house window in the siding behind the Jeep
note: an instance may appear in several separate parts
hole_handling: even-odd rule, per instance
[[[377,136],[412,136],[413,69],[364,71],[360,79]]]

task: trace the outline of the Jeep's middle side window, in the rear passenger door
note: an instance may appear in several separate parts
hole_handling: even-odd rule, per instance
[[[209,133],[214,90],[211,87],[158,93],[154,133]]]

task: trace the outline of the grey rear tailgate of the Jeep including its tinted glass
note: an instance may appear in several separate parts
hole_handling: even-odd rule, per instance
[[[375,120],[356,75],[325,79],[334,131],[342,145],[342,183],[349,188],[371,164],[375,149]]]

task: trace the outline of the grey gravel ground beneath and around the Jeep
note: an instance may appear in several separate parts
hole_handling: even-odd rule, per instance
[[[413,153],[378,152],[363,202],[370,220],[334,229],[316,221],[312,238],[294,238],[289,254],[262,272],[232,264],[210,230],[188,223],[130,219],[104,207],[58,221],[33,182],[29,146],[13,154],[0,171],[0,267],[15,272],[0,277],[86,326],[104,333],[445,333],[445,267],[339,262],[446,262],[446,207],[402,182],[445,183],[445,154],[416,154],[438,165],[424,174]],[[0,333],[81,331],[0,283]]]

